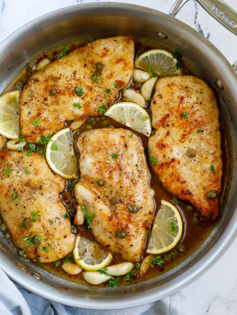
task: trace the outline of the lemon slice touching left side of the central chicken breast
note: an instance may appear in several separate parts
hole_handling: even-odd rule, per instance
[[[78,177],[78,163],[73,150],[70,128],[61,129],[46,146],[46,161],[49,167],[66,179]]]

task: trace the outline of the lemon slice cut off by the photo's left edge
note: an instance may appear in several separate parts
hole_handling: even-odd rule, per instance
[[[6,138],[18,140],[20,91],[14,90],[0,97],[0,134]]]

